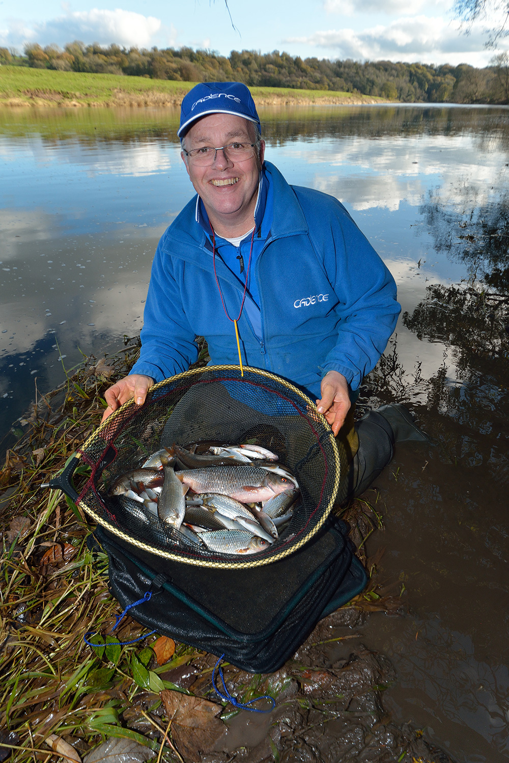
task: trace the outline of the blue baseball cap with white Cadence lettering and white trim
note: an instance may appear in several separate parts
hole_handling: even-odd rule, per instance
[[[258,124],[261,131],[255,101],[242,82],[200,82],[200,85],[194,85],[182,101],[178,137],[182,139],[191,124],[206,114],[235,114]]]

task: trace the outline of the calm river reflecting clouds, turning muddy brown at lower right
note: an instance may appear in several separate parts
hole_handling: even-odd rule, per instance
[[[370,548],[405,607],[363,629],[398,673],[384,701],[461,763],[509,760],[509,110],[260,112],[266,158],[340,199],[398,284],[360,406],[408,404],[434,440],[398,446],[376,481]],[[193,194],[177,125],[168,109],[0,111],[4,447],[64,369],[139,332],[156,243]]]

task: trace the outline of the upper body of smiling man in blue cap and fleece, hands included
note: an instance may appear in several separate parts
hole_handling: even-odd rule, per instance
[[[106,418],[187,370],[205,336],[213,364],[242,362],[307,391],[338,435],[395,327],[395,282],[335,198],[292,187],[270,163],[251,93],[196,85],[181,157],[197,196],[152,265],[139,361],[105,394]]]

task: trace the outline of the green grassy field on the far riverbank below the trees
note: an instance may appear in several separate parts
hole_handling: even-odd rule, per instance
[[[176,106],[194,84],[169,79],[1,66],[0,105]],[[383,98],[330,90],[262,87],[251,88],[251,92],[259,105],[383,101]]]

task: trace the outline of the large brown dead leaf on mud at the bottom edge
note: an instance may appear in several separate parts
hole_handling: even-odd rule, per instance
[[[211,752],[226,728],[216,717],[222,706],[169,689],[163,689],[161,699],[172,721],[171,736],[184,760],[198,761],[202,753]]]

